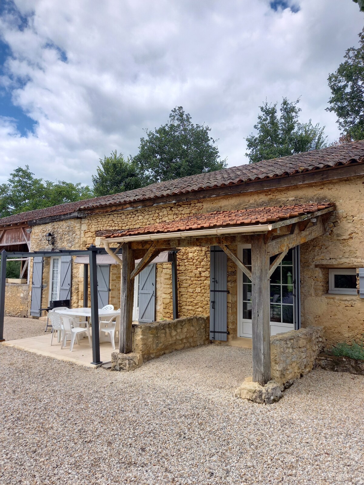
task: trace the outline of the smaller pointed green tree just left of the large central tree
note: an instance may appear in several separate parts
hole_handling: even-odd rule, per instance
[[[110,157],[99,159],[99,163],[97,175],[92,176],[96,196],[118,194],[146,185],[143,173],[129,158],[125,161],[123,155],[117,154],[116,150],[111,152]]]

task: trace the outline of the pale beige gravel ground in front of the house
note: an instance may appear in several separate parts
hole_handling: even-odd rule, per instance
[[[233,397],[247,375],[226,346],[129,373],[0,346],[0,484],[364,484],[364,377],[316,370],[265,406]]]

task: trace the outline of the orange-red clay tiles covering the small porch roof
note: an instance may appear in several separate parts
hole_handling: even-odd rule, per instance
[[[136,234],[157,234],[193,229],[207,229],[209,227],[242,226],[266,224],[289,219],[299,215],[310,214],[317,210],[327,209],[332,204],[298,204],[286,207],[259,207],[242,210],[222,210],[207,214],[193,214],[177,221],[160,222],[136,229],[125,231],[116,230],[112,234],[105,234],[107,238],[132,236]]]

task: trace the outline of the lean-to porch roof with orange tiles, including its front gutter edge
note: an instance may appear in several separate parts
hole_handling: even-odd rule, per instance
[[[251,232],[267,232],[273,228],[272,224],[274,223],[285,220],[289,223],[293,217],[305,216],[322,210],[333,210],[333,204],[296,204],[283,207],[260,207],[192,214],[175,221],[166,221],[134,229],[105,231],[105,233],[99,233],[99,235],[102,235],[105,239],[110,239],[110,241],[120,242],[124,241],[124,238],[131,241],[134,239],[133,236],[138,236],[138,240],[142,241],[144,236],[145,239],[149,239],[148,236],[151,234],[166,235],[181,231],[191,231],[191,236],[193,236],[194,231],[199,229],[226,228],[233,234],[242,226],[248,230],[251,229]],[[244,232],[246,231],[244,230]],[[196,233],[196,235],[199,234]]]

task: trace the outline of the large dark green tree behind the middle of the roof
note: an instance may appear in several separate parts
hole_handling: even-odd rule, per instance
[[[220,160],[210,128],[194,125],[182,106],[174,108],[169,121],[154,131],[146,130],[140,139],[139,153],[132,162],[148,183],[214,172],[226,167]]]

